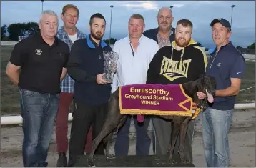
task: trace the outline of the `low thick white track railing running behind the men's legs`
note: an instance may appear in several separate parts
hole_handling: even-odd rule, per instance
[[[235,109],[255,109],[255,103],[235,104]],[[69,121],[72,121],[72,113],[69,113]],[[1,116],[1,125],[22,124],[21,116]]]

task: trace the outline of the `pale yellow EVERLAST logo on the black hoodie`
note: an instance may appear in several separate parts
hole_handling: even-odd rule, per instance
[[[164,56],[160,68],[160,75],[163,75],[170,81],[178,78],[187,78],[187,72],[191,59],[175,61]]]

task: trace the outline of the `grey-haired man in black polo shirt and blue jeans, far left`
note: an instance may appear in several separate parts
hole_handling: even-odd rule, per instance
[[[42,12],[39,29],[39,34],[14,46],[6,66],[7,76],[19,87],[21,95],[24,167],[47,166],[59,107],[59,85],[67,73],[69,57],[69,46],[56,38],[58,17],[54,11]]]

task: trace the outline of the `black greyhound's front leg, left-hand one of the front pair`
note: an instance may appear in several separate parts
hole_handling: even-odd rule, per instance
[[[169,149],[168,149],[167,154],[169,154],[169,163],[176,164],[177,162],[172,159],[172,154],[174,151],[175,143],[177,141],[177,137],[179,134],[179,126],[181,123],[175,122],[175,119],[172,122],[173,122],[173,124],[172,124],[171,140],[169,142]]]

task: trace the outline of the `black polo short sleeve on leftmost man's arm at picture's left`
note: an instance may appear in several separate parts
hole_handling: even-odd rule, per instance
[[[10,62],[16,66],[21,66],[24,63],[24,47],[22,47],[21,42],[17,43],[14,46],[14,49],[11,51]]]

